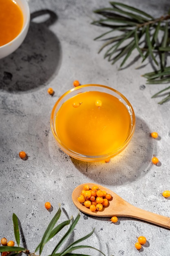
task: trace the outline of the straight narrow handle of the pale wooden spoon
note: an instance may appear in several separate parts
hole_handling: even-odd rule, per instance
[[[165,227],[167,229],[170,229],[170,218],[161,216],[156,213],[151,213],[149,211],[137,208],[131,204],[126,205],[126,216],[131,217],[131,218],[136,218],[139,220],[145,220],[147,222],[156,224],[161,227]]]

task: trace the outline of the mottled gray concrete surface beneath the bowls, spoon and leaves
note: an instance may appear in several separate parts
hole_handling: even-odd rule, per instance
[[[169,0],[126,3],[156,17],[170,8]],[[86,182],[104,185],[137,207],[170,216],[170,200],[161,196],[162,191],[170,190],[170,101],[160,106],[160,99],[151,99],[164,86],[146,85],[141,77],[152,71],[150,63],[146,61],[142,69],[135,70],[140,64],[137,60],[117,71],[120,62],[110,65],[104,53],[97,54],[102,42],[93,38],[106,30],[90,23],[95,18],[93,10],[109,6],[107,1],[30,0],[29,6],[31,24],[24,43],[0,60],[0,237],[15,240],[14,212],[21,222],[26,246],[33,252],[58,203],[62,205],[60,221],[77,216],[71,193]],[[136,56],[134,52],[128,63]],[[53,138],[51,110],[57,99],[73,88],[75,79],[81,84],[97,83],[119,90],[135,110],[137,125],[132,141],[107,164],[71,159]],[[53,97],[47,93],[49,87],[55,91]],[[152,131],[159,132],[159,140],[150,138]],[[21,150],[29,155],[28,160],[19,158]],[[161,166],[152,165],[153,154]],[[46,201],[53,205],[51,213],[44,208]],[[84,244],[108,256],[170,255],[168,229],[130,218],[119,218],[118,225],[114,225],[108,218],[80,214],[68,243],[95,227],[95,233]],[[141,251],[134,247],[137,236],[148,240]],[[52,239],[42,255],[49,255],[60,238]],[[86,249],[79,253],[100,255]]]

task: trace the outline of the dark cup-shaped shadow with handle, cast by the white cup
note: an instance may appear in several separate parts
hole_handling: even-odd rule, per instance
[[[31,14],[29,31],[22,45],[0,60],[0,89],[12,93],[28,92],[46,85],[58,73],[61,45],[49,29],[56,20],[57,15],[50,10]]]

